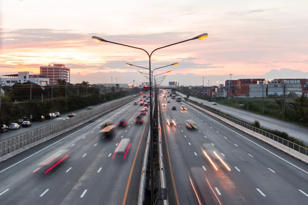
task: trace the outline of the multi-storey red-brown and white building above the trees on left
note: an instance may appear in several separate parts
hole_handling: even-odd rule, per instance
[[[58,79],[70,82],[70,69],[64,64],[53,64],[53,66],[40,66],[40,74],[49,78],[50,85],[57,84]]]

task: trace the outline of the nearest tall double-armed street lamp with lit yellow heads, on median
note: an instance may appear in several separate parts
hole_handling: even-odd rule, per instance
[[[134,49],[138,49],[138,50],[142,50],[144,51],[148,58],[149,58],[149,76],[150,76],[150,167],[151,167],[151,205],[154,205],[155,203],[155,200],[154,200],[154,182],[153,182],[153,113],[152,113],[152,87],[151,87],[151,57],[152,57],[152,54],[157,51],[157,50],[160,50],[160,49],[163,49],[163,48],[167,48],[167,47],[170,47],[170,46],[174,46],[174,45],[177,45],[177,44],[181,44],[181,43],[184,43],[184,42],[188,42],[189,40],[195,40],[195,39],[199,39],[199,40],[203,40],[205,39],[206,37],[208,36],[207,33],[203,33],[203,34],[200,34],[196,37],[193,37],[193,38],[189,38],[189,39],[186,39],[186,40],[182,40],[181,42],[177,42],[177,43],[174,43],[174,44],[169,44],[167,46],[163,46],[163,47],[159,47],[157,49],[154,49],[151,53],[147,52],[145,49],[143,48],[138,48],[138,47],[134,47],[134,46],[129,46],[129,45],[125,45],[125,44],[120,44],[120,43],[116,43],[116,42],[110,42],[109,40],[105,40],[101,37],[98,37],[98,36],[92,36],[92,39],[95,41],[95,42],[105,42],[105,43],[110,43],[110,44],[115,44],[115,45],[120,45],[120,46],[125,46],[125,47],[129,47],[129,48],[134,48]]]

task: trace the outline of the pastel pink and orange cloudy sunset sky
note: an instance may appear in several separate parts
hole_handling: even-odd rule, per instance
[[[151,52],[208,33],[153,53],[152,68],[179,63],[157,70],[171,70],[164,83],[214,84],[230,73],[308,78],[307,10],[306,0],[2,0],[0,74],[65,64],[72,83],[132,84],[148,71],[125,64],[148,68],[147,54],[92,35]]]

